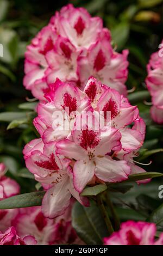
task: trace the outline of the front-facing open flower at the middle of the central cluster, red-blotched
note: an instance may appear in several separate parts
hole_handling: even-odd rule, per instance
[[[77,117],[77,119],[80,118]],[[95,118],[95,117],[92,117]],[[86,120],[83,117],[82,120]],[[65,139],[57,143],[57,153],[74,159],[74,187],[80,193],[91,182],[93,176],[106,182],[117,182],[128,178],[130,168],[126,161],[112,160],[111,150],[121,149],[121,133],[116,129],[98,129],[95,131],[89,123],[82,122],[82,130],[72,131],[71,140]],[[94,120],[97,124],[98,120]]]

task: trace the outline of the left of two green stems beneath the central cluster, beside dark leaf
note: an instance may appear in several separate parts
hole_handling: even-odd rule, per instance
[[[98,206],[99,206],[99,209],[100,209],[101,212],[102,212],[102,216],[103,216],[104,221],[105,221],[105,223],[106,223],[106,227],[108,228],[109,235],[111,235],[112,232],[114,232],[114,229],[113,229],[113,227],[112,227],[110,218],[109,218],[108,213],[106,212],[105,206],[104,206],[104,204],[103,204],[102,194],[98,194],[98,195],[97,195],[97,204],[98,204]]]

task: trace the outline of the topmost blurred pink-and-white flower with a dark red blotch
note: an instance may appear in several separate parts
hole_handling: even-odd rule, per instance
[[[84,8],[68,4],[56,13],[50,21],[57,33],[68,38],[79,49],[87,49],[96,42],[103,29],[102,19],[91,17]]]

